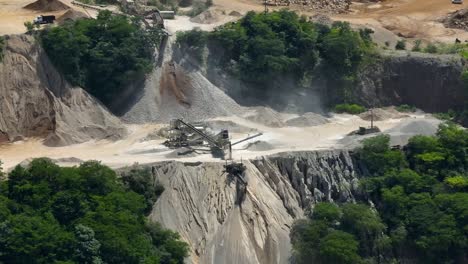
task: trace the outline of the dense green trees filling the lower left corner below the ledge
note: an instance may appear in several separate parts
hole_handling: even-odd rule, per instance
[[[145,197],[97,162],[61,168],[36,159],[8,176],[0,185],[1,263],[172,264],[187,255],[177,233],[146,220]]]

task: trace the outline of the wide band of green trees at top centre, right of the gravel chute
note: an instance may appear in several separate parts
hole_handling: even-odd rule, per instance
[[[359,65],[372,53],[370,30],[354,31],[348,23],[332,27],[314,24],[295,12],[249,12],[238,22],[214,32],[199,30],[179,33],[177,42],[186,52],[203,57],[208,44],[222,49],[213,54],[220,65],[252,87],[264,90],[284,88],[285,79],[304,86],[322,73],[316,66],[322,60],[333,79],[352,80]]]

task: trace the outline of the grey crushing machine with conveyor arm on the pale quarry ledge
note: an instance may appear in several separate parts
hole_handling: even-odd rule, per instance
[[[171,149],[188,148],[193,152],[211,152],[215,157],[232,159],[232,146],[263,135],[257,133],[231,143],[229,131],[222,129],[214,134],[203,123],[189,124],[182,119],[170,122],[167,138],[163,144]],[[226,157],[227,156],[227,157]]]

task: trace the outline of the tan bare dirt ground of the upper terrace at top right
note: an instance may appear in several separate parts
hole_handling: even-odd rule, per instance
[[[219,9],[236,10],[246,13],[250,10],[262,11],[260,0],[214,0]],[[353,24],[363,25],[378,31],[381,42],[394,42],[398,37],[409,39],[423,39],[427,41],[453,42],[455,38],[468,40],[468,33],[463,30],[445,28],[439,19],[448,13],[466,8],[468,3],[455,5],[451,0],[387,0],[378,3],[353,2],[347,14],[329,14],[334,20],[349,21]],[[268,7],[277,10],[282,7]],[[292,10],[304,15],[313,15],[317,12],[303,6],[290,6]],[[388,36],[391,31],[395,36]]]

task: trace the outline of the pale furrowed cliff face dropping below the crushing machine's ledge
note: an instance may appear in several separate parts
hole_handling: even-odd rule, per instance
[[[288,263],[293,221],[315,202],[354,201],[358,173],[347,151],[281,153],[244,161],[248,185],[224,163],[161,162],[165,191],[150,220],[190,245],[188,263]]]

